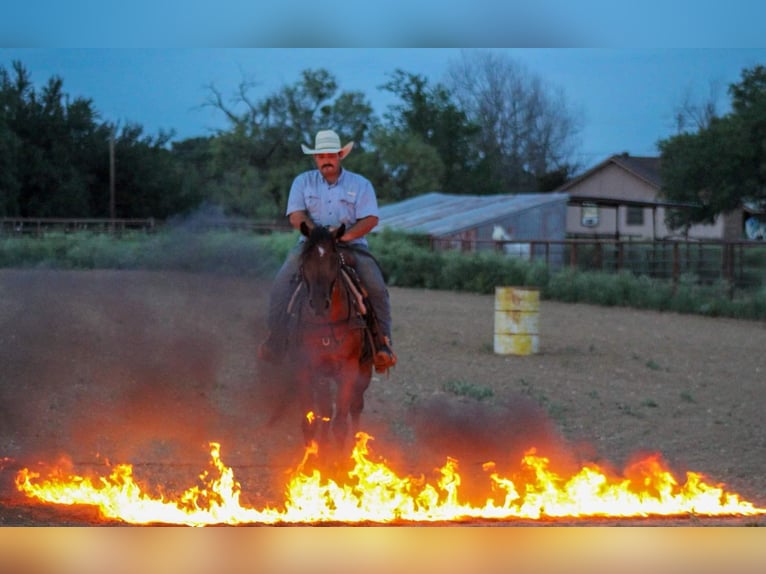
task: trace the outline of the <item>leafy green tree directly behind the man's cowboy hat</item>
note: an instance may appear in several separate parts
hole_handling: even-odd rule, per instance
[[[364,96],[338,93],[335,77],[326,70],[305,70],[299,81],[260,100],[252,96],[255,87],[241,82],[226,102],[209,86],[205,105],[229,120],[213,145],[216,168],[210,183],[216,199],[233,213],[276,217],[284,213],[293,178],[310,167],[301,143],[313,143],[318,130],[332,128],[363,152],[375,120]]]

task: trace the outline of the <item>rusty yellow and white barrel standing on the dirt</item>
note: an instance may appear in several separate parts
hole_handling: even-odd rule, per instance
[[[539,289],[495,287],[495,353],[537,353],[540,347],[539,317]]]

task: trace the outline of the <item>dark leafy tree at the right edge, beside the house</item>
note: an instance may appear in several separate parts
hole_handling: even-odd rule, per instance
[[[766,206],[766,67],[743,70],[729,94],[729,114],[658,144],[663,197],[698,206],[672,210],[674,228],[710,223],[743,202]]]

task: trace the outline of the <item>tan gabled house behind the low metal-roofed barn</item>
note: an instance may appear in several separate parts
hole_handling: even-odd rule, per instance
[[[662,201],[660,158],[613,155],[559,187],[570,196],[566,231],[573,238],[616,237],[620,239],[679,238],[680,230],[669,229],[665,213],[670,208],[689,207]],[[719,216],[712,225],[689,229],[692,239],[741,239],[742,212]]]

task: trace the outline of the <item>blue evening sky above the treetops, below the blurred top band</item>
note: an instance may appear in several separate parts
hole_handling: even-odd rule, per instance
[[[242,81],[257,100],[324,68],[339,89],[362,91],[382,114],[396,102],[379,89],[397,68],[445,79],[451,61],[475,48],[3,48],[0,66],[20,61],[36,85],[58,75],[64,92],[93,101],[102,119],[134,122],[145,133],[172,130],[174,139],[226,128],[204,106],[214,85],[228,98]],[[575,161],[583,168],[615,153],[657,155],[658,140],[675,133],[685,100],[717,101],[728,111],[728,86],[743,69],[766,65],[764,48],[490,48],[562,90],[580,119]],[[301,142],[296,142],[298,145]],[[310,143],[310,142],[306,142]]]

